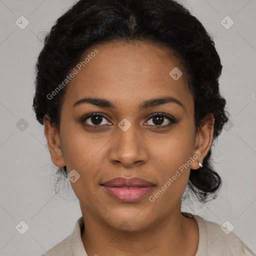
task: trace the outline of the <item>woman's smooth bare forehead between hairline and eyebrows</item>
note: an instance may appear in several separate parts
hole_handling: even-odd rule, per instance
[[[193,103],[183,75],[175,80],[169,74],[182,67],[158,46],[144,42],[97,44],[88,48],[80,61],[83,65],[75,67],[77,73],[67,85],[64,103],[96,96],[129,105],[163,95],[176,97],[185,107]]]

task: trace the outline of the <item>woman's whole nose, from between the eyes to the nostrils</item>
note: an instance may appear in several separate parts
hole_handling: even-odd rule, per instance
[[[127,119],[123,119],[116,127],[116,136],[109,154],[111,162],[121,162],[125,166],[130,166],[135,162],[144,162],[147,159],[145,145],[139,137],[140,131],[136,124],[131,124]]]

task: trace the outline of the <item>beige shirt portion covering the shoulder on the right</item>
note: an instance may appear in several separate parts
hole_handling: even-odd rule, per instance
[[[199,243],[195,256],[256,256],[234,232],[230,231],[233,227],[229,221],[219,225],[199,215],[185,214],[193,217],[199,228]]]

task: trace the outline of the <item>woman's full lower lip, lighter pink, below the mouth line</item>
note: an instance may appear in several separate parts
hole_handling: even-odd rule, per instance
[[[154,186],[103,186],[115,199],[122,202],[134,202],[148,194]]]

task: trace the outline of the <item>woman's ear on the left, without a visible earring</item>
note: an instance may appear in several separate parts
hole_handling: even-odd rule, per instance
[[[45,114],[43,117],[44,134],[47,139],[47,144],[50,152],[50,158],[54,165],[64,167],[65,161],[61,149],[60,136],[58,129],[51,125],[50,117]]]

